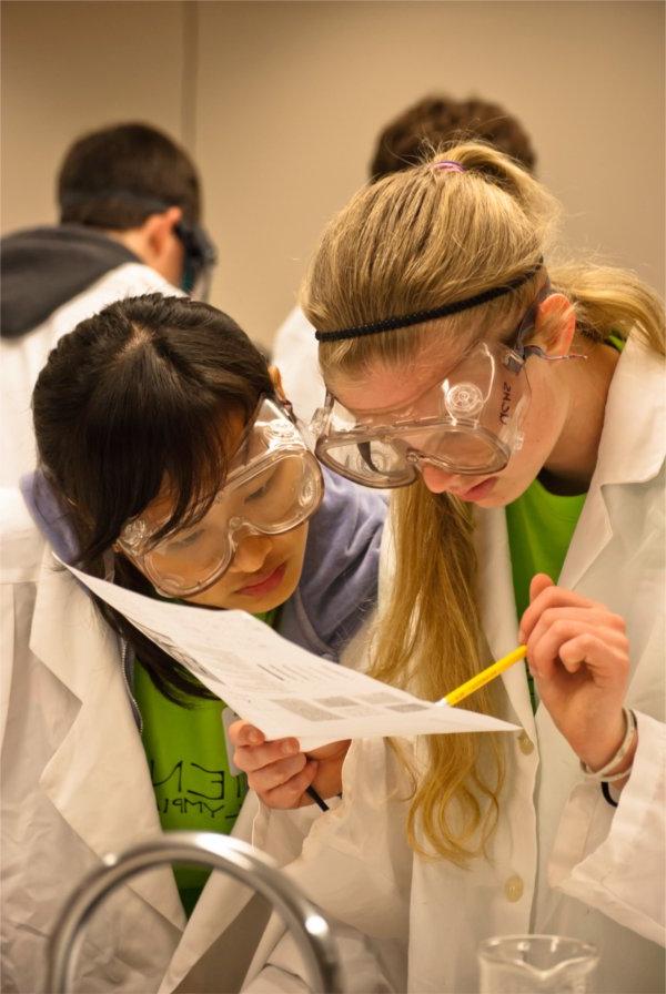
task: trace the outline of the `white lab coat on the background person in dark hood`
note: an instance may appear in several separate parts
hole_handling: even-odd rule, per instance
[[[38,327],[0,342],[0,486],[16,487],[34,469],[36,450],[30,399],[37,377],[58,339],[107,304],[143,293],[180,294],[141,263],[123,263],[58,307]]]

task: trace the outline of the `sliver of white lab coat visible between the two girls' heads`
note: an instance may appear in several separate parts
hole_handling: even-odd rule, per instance
[[[326,387],[320,372],[314,328],[300,307],[290,311],[278,328],[272,351],[284,393],[297,417],[310,424],[316,408],[324,403]]]

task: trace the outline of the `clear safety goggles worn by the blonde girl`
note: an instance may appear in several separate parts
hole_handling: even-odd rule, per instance
[[[529,406],[528,356],[546,356],[523,345],[534,307],[516,331],[515,344],[480,343],[408,406],[356,416],[331,394],[315,413],[315,453],[326,466],[365,487],[405,487],[423,465],[476,476],[498,473],[523,444]]]

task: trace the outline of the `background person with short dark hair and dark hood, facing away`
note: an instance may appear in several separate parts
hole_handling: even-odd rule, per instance
[[[78,139],[57,196],[59,224],[0,241],[3,486],[34,465],[30,395],[60,336],[121,297],[182,290],[202,298],[215,260],[194,164],[147,124]]]

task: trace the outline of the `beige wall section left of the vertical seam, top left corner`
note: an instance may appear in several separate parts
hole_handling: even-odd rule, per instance
[[[1,17],[3,232],[56,220],[56,170],[82,131],[145,119],[180,138],[181,3],[12,0]]]

